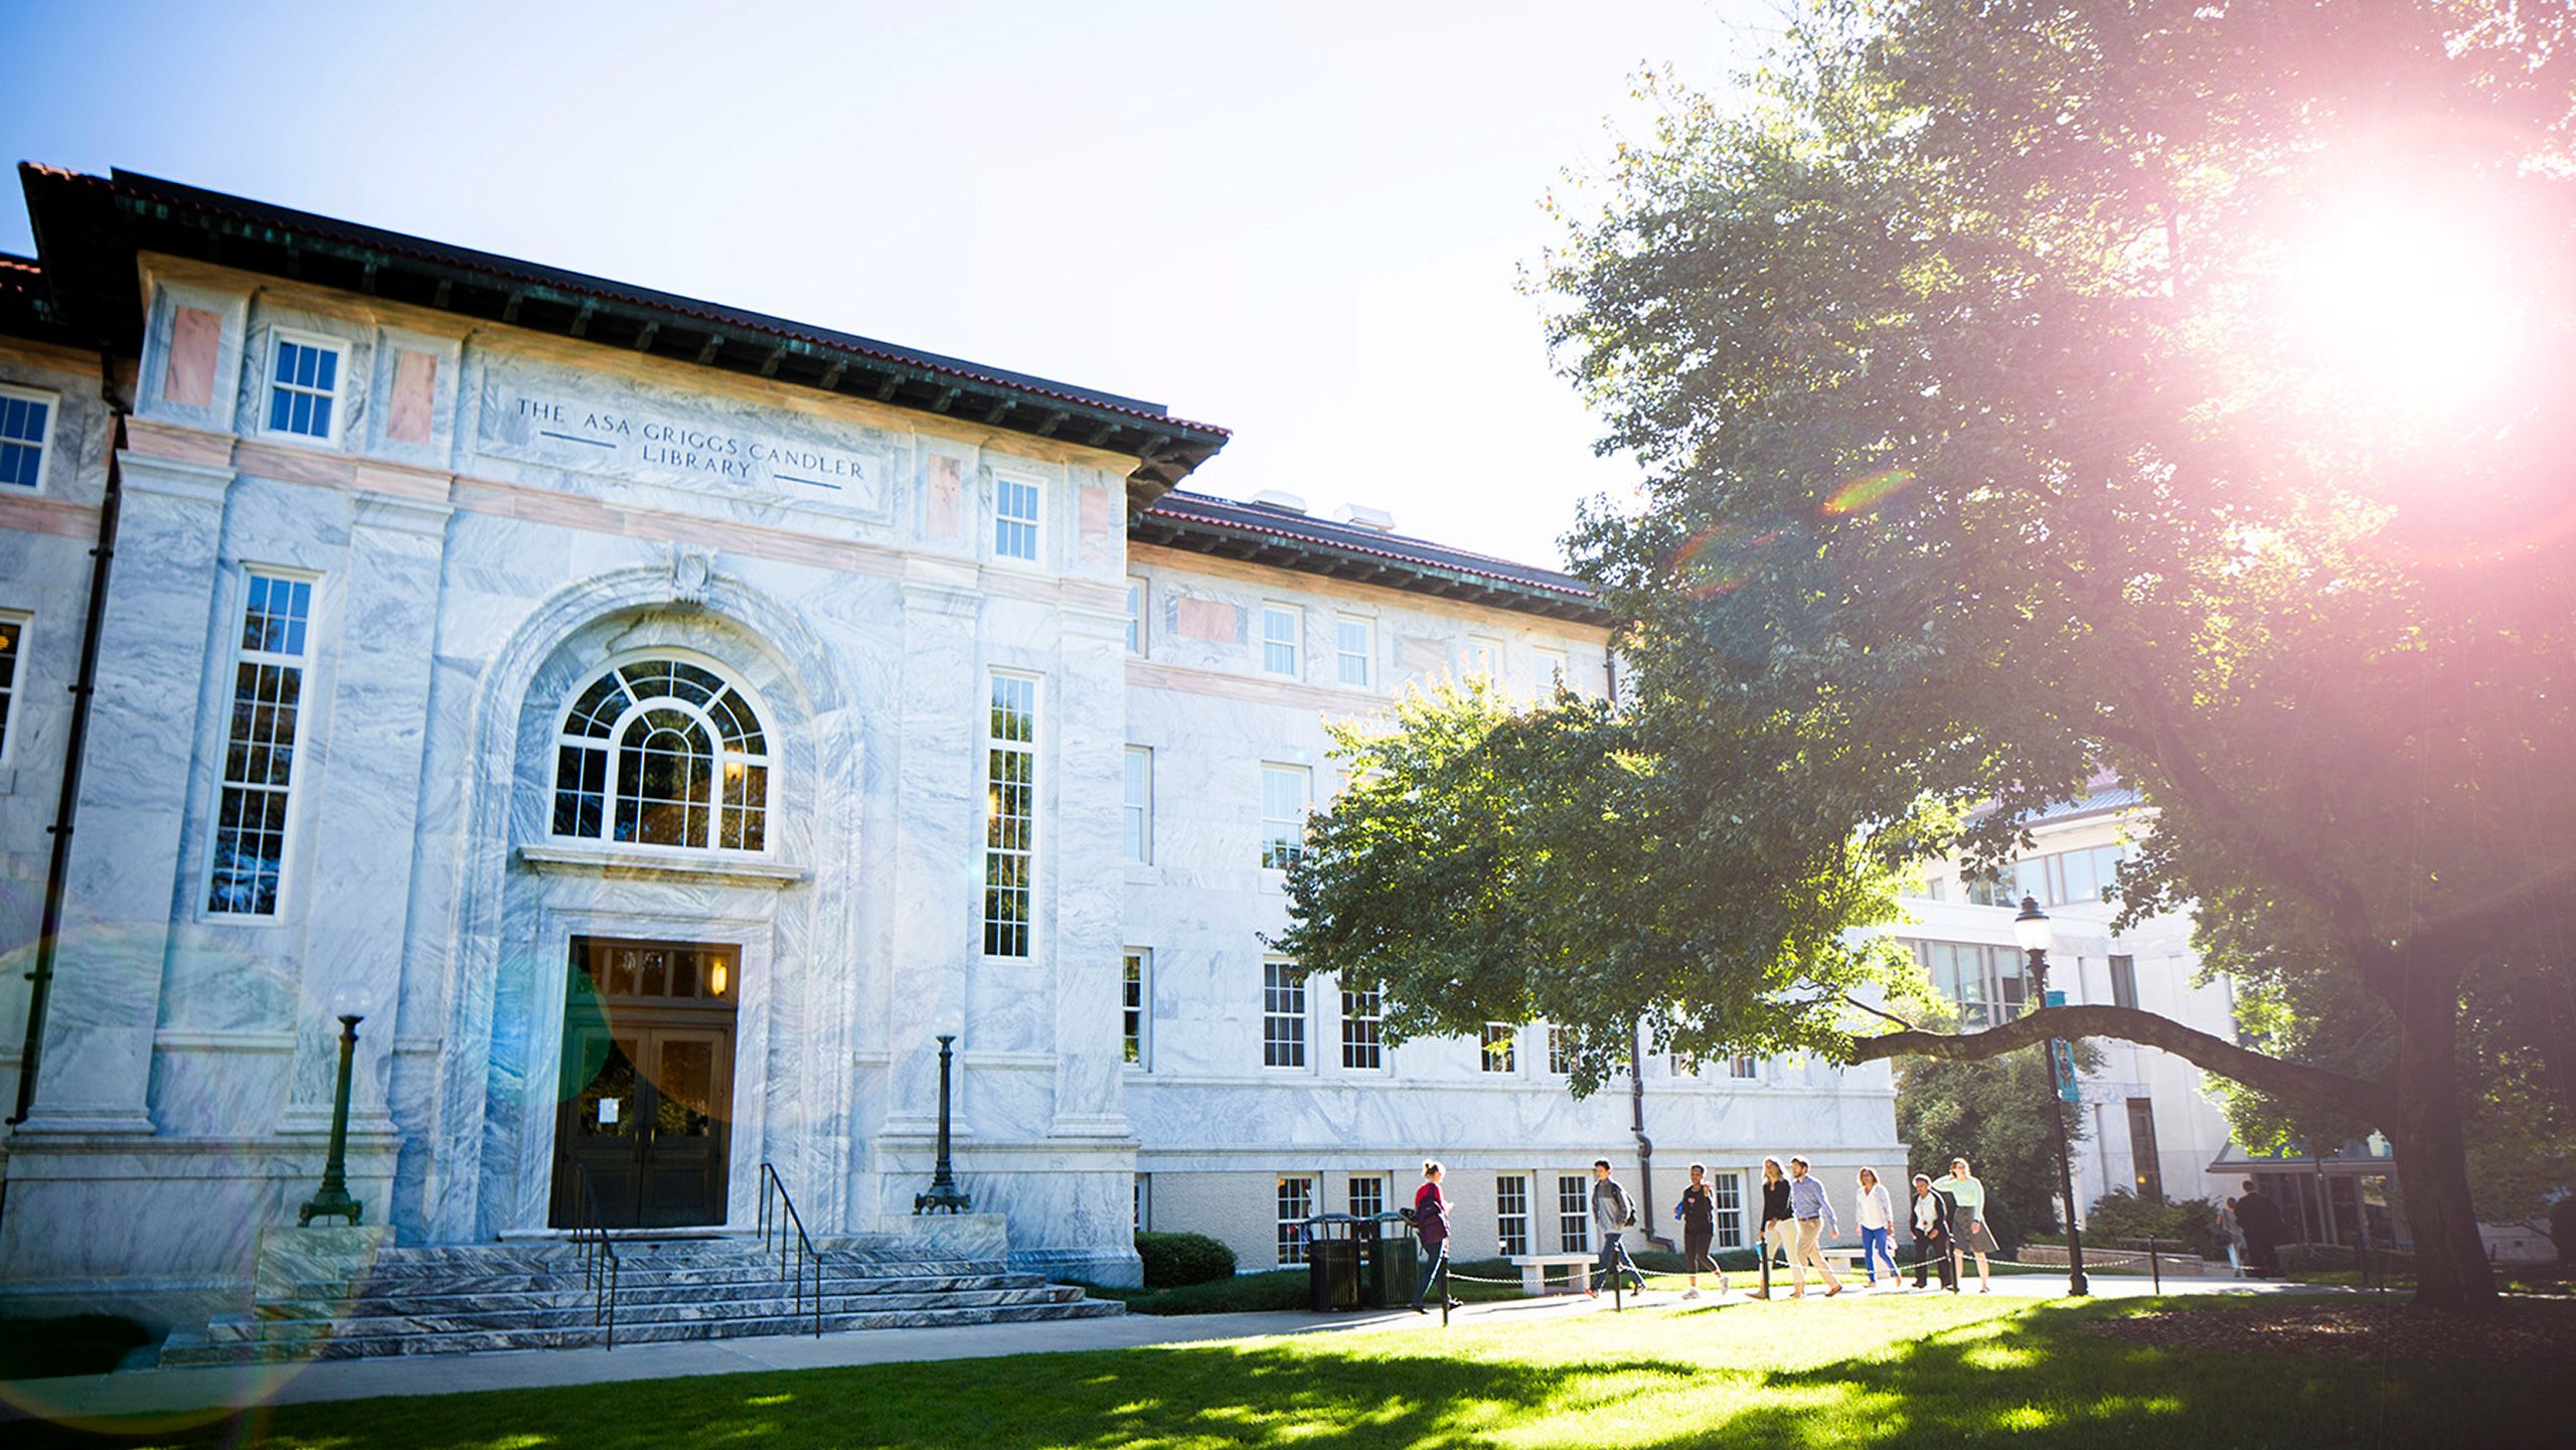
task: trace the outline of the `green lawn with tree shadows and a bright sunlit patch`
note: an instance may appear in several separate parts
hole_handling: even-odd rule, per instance
[[[1747,1303],[286,1406],[129,1445],[587,1450],[626,1445],[1020,1445],[1157,1450],[1394,1445],[1886,1445],[2012,1435],[2066,1450],[2164,1445],[2537,1445],[2563,1373],[2476,1360],[2365,1365],[2102,1339],[2141,1306],[1978,1298]],[[2558,1313],[2561,1306],[2524,1306]],[[2568,1316],[2576,1329],[2576,1313]],[[2576,1342],[2576,1337],[2571,1337]],[[18,1432],[18,1450],[98,1445]]]

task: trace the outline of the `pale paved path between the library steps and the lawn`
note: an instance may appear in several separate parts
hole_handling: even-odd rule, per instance
[[[1734,1275],[1736,1293],[1705,1293],[1698,1303],[1744,1301],[1752,1275]],[[2092,1280],[2102,1298],[2151,1293],[2143,1277],[2102,1275]],[[2066,1280],[2048,1275],[1996,1275],[1994,1293],[2012,1298],[2050,1298]],[[2257,1280],[2164,1280],[2166,1293],[2300,1293],[2303,1285]],[[1777,1280],[1788,1295],[1788,1283]],[[1808,1285],[1808,1298],[1821,1298]],[[1932,1290],[1940,1293],[1940,1290]],[[1976,1293],[1971,1280],[1968,1293]],[[2339,1290],[2326,1290],[2339,1293]],[[1896,1298],[1888,1290],[1847,1290],[1839,1303]],[[1674,1308],[1680,1293],[1651,1290],[1628,1298],[1628,1308]],[[1455,1324],[1517,1324],[1571,1313],[1610,1313],[1610,1295],[1548,1295],[1502,1303],[1471,1303]],[[750,1370],[819,1370],[837,1365],[886,1365],[902,1360],[979,1360],[992,1355],[1059,1355],[1069,1350],[1133,1350],[1141,1344],[1190,1344],[1211,1339],[1255,1339],[1270,1334],[1355,1334],[1412,1332],[1437,1334],[1440,1316],[1394,1313],[1193,1313],[1157,1319],[1123,1313],[1115,1319],[1066,1319],[1054,1324],[976,1324],[958,1329],[868,1329],[855,1334],[778,1337],[778,1339],[696,1339],[683,1344],[629,1344],[623,1350],[520,1350],[507,1355],[420,1355],[407,1360],[322,1360],[312,1365],[234,1365],[188,1370],[124,1370],[113,1375],[67,1375],[57,1380],[0,1383],[0,1419],[80,1422],[111,1414],[183,1414],[250,1404],[299,1404],[376,1396],[435,1396],[466,1391],[507,1391],[544,1386],[590,1386],[611,1380],[672,1380],[688,1375],[737,1375]]]

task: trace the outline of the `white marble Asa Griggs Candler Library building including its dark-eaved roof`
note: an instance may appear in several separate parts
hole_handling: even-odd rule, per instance
[[[1267,1265],[1283,1205],[1394,1205],[1425,1154],[1468,1249],[1556,1249],[1558,1174],[1633,1174],[1631,1095],[1574,1102],[1543,1025],[1507,1071],[1381,1051],[1260,945],[1324,721],[1461,670],[1605,688],[1571,579],[1175,492],[1224,430],[1157,404],[23,180],[0,1298],[240,1301],[317,1180],[343,1015],[350,1190],[404,1244],[585,1203],[739,1229],[762,1172],[824,1234],[902,1226],[938,1033],[1023,1267],[1131,1280],[1133,1216]],[[1638,1100],[1659,1205],[1695,1156],[1899,1162],[1880,1066],[1646,1064]]]

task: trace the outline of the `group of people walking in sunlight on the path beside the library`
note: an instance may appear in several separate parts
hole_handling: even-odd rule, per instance
[[[1414,1313],[1430,1313],[1422,1295],[1432,1290],[1440,1270],[1448,1265],[1448,1195],[1440,1190],[1443,1167],[1437,1162],[1422,1164],[1422,1187],[1414,1190],[1414,1234],[1422,1236],[1422,1283],[1414,1285]],[[2249,1185],[2251,1187],[2251,1185]],[[1592,1229],[1600,1239],[1600,1267],[1597,1285],[1584,1288],[1587,1295],[1600,1295],[1600,1283],[1615,1285],[1620,1275],[1628,1277],[1638,1290],[1646,1288],[1646,1275],[1638,1272],[1636,1262],[1628,1257],[1628,1229],[1636,1226],[1636,1203],[1628,1190],[1610,1177],[1610,1159],[1592,1159]],[[1718,1293],[1726,1293],[1726,1270],[1718,1267],[1710,1247],[1716,1241],[1718,1226],[1718,1200],[1708,1187],[1708,1167],[1690,1164],[1690,1185],[1682,1190],[1680,1203],[1672,1205],[1674,1221],[1682,1223],[1682,1267],[1690,1275],[1690,1288],[1682,1298],[1700,1298],[1700,1275],[1718,1277]],[[1860,1169],[1857,1198],[1852,1203],[1852,1218],[1860,1226],[1860,1265],[1868,1270],[1868,1283],[1878,1285],[1878,1267],[1886,1265],[1888,1283],[1904,1285],[1904,1272],[1896,1267],[1896,1205],[1888,1195],[1886,1182],[1878,1180],[1878,1169]],[[1986,1185],[1968,1172],[1968,1159],[1950,1159],[1950,1172],[1945,1177],[1914,1174],[1914,1208],[1909,1213],[1914,1229],[1914,1288],[1929,1288],[1927,1270],[1940,1267],[1940,1283],[1945,1290],[1958,1293],[1960,1280],[1968,1272],[1965,1259],[1976,1259],[1976,1290],[1991,1293],[1994,1270],[1986,1252],[1994,1249],[1994,1234],[1986,1229]],[[1842,1293],[1842,1277],[1824,1259],[1824,1239],[1839,1239],[1842,1223],[1834,1216],[1834,1198],[1824,1190],[1824,1182],[1808,1172],[1803,1156],[1790,1156],[1788,1167],[1780,1159],[1762,1159],[1762,1288],[1754,1298],[1772,1298],[1770,1270],[1772,1254],[1788,1259],[1790,1267],[1790,1298],[1806,1298],[1806,1270],[1814,1267],[1824,1277],[1824,1295],[1832,1298]],[[1458,1301],[1448,1301],[1450,1308]]]

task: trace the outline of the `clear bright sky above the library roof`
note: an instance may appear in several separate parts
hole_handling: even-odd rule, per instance
[[[0,139],[1146,397],[1234,430],[1190,487],[1553,561],[1633,471],[1515,288],[1538,198],[1772,15],[0,0]]]

